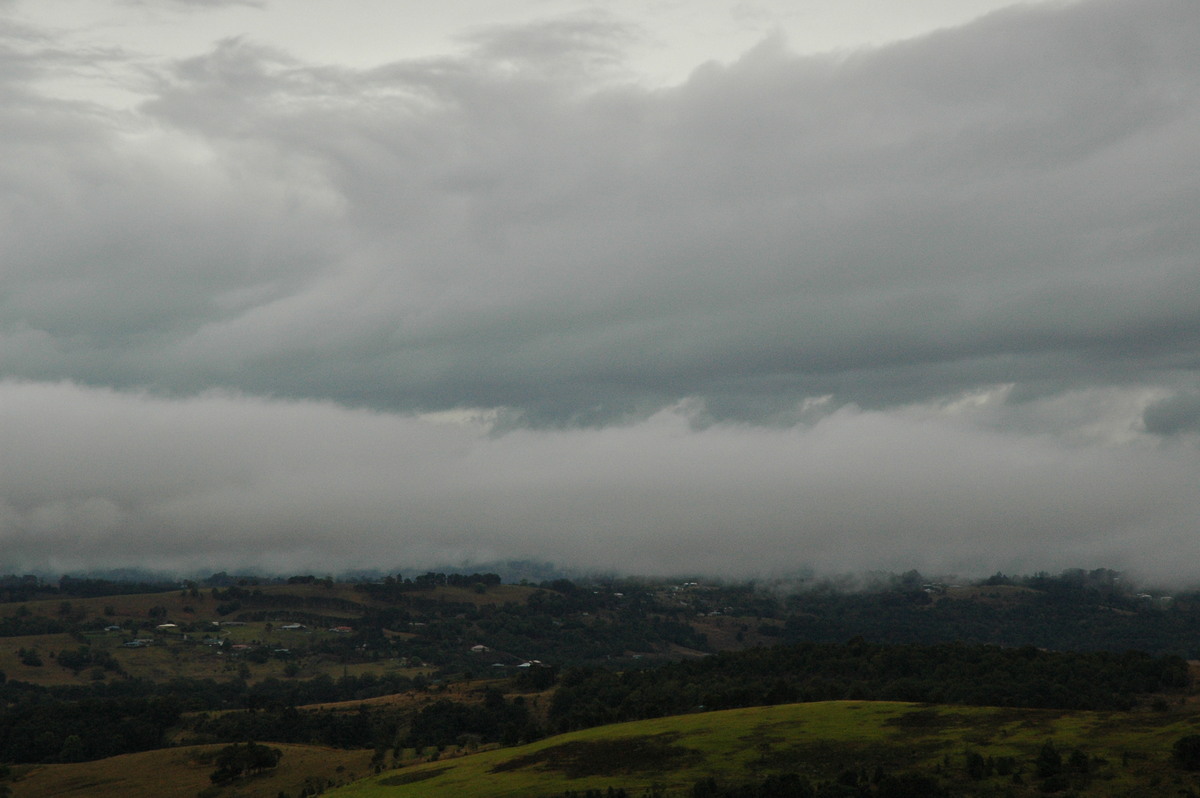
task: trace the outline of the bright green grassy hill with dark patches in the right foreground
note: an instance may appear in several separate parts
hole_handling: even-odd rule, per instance
[[[962,796],[1045,794],[1034,763],[1049,740],[1064,760],[1088,760],[1078,796],[1176,796],[1200,781],[1170,763],[1171,745],[1200,731],[1189,708],[1066,713],[890,702],[787,704],[637,721],[516,749],[414,764],[328,793],[336,798],[536,798],[571,790],[652,785],[690,794],[700,779],[722,784],[799,773],[832,780],[846,769],[935,774]],[[967,752],[1013,757],[1012,774],[972,780]]]

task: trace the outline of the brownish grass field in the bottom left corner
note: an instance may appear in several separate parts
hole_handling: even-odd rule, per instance
[[[278,744],[271,748],[283,757],[274,770],[214,787],[209,774],[222,748],[196,745],[79,764],[18,766],[12,792],[19,798],[276,798],[281,792],[299,796],[306,784],[326,787],[370,773],[371,751]]]

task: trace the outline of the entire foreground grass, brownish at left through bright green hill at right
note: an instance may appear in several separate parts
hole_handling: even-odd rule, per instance
[[[1088,782],[1063,794],[1151,798],[1200,787],[1198,776],[1178,770],[1169,757],[1176,739],[1198,732],[1200,714],[1190,706],[1067,713],[841,701],[619,724],[378,775],[367,775],[371,751],[278,744],[283,758],[275,770],[212,787],[212,757],[223,746],[197,745],[78,764],[17,766],[12,788],[22,798],[276,798],[298,796],[306,786],[332,787],[325,793],[330,798],[548,798],[610,786],[640,796],[660,785],[665,794],[682,797],[709,776],[739,784],[794,772],[826,781],[844,769],[870,773],[880,766],[889,773],[936,773],[955,796],[1022,798],[1045,794],[1033,762],[1052,740],[1064,757],[1079,749],[1093,764]],[[998,775],[971,781],[967,751],[1014,757],[1021,782]]]

